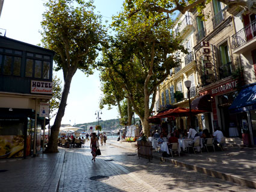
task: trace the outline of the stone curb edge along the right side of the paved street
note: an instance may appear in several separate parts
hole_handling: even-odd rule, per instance
[[[133,151],[133,152],[137,152],[136,149],[127,149],[126,147],[118,146],[117,144],[110,143],[110,145],[120,147],[122,149],[130,150],[130,151]],[[242,186],[245,186],[245,187],[256,188],[256,182],[255,181],[251,181],[251,180],[248,180],[248,179],[243,179],[243,178],[240,178],[238,176],[229,175],[227,173],[218,172],[216,170],[195,166],[195,165],[192,165],[192,164],[189,164],[189,163],[184,163],[182,161],[178,161],[178,160],[175,160],[175,159],[163,158],[161,156],[154,155],[154,154],[153,154],[153,158],[160,159],[160,161],[166,161],[166,162],[172,163],[175,166],[180,166],[180,167],[185,167],[186,169],[195,170],[196,172],[204,173],[206,175],[213,176],[214,178],[219,178],[219,179],[222,179],[222,180],[225,180],[225,181],[233,182],[235,184],[239,184],[239,185],[242,185]]]

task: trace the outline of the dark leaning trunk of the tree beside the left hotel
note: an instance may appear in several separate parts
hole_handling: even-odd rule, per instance
[[[51,127],[51,136],[49,138],[48,147],[45,153],[57,153],[58,152],[58,133],[60,132],[61,120],[65,113],[65,108],[67,105],[67,96],[69,95],[70,84],[75,74],[76,69],[71,69],[67,72],[66,78],[64,78],[64,88],[61,96],[60,106],[58,108],[58,113],[54,120],[54,125]]]

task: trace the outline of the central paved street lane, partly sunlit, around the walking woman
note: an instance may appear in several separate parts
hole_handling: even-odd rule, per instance
[[[101,156],[91,161],[90,148],[67,149],[58,191],[251,191],[232,182],[207,176],[114,146],[101,146]],[[95,176],[108,176],[94,181]]]

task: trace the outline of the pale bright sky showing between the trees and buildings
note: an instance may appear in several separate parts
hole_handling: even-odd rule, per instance
[[[37,45],[42,39],[39,30],[42,13],[45,11],[45,0],[5,0],[0,17],[0,28],[6,29],[6,37],[21,42]],[[122,0],[95,0],[96,11],[103,16],[102,21],[111,21],[111,16],[122,9]],[[108,22],[110,23],[110,22]],[[54,72],[63,81],[63,73]],[[63,81],[64,83],[64,81]],[[101,97],[99,72],[87,77],[79,70],[73,76],[67,107],[62,124],[95,122],[95,112],[99,111]],[[107,110],[100,115],[102,120],[117,119],[117,108]],[[51,120],[51,125],[54,119]]]

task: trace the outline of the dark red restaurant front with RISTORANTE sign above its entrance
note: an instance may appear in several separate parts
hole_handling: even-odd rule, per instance
[[[229,107],[237,96],[236,87],[237,80],[228,78],[199,90],[199,94],[208,95],[208,101],[211,102],[211,113],[205,113],[202,116],[203,127],[208,126],[210,132],[214,132],[214,128],[219,127],[225,137],[242,135],[236,114],[229,113]]]

